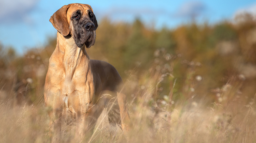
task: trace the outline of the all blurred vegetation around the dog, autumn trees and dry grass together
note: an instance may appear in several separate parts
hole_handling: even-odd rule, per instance
[[[43,87],[55,47],[56,37],[50,37],[44,47],[18,56],[0,41],[0,142],[51,142]],[[111,63],[125,82],[134,124],[128,142],[256,141],[252,15],[174,29],[104,19],[86,51],[91,59]],[[84,142],[127,142],[118,126],[106,123],[99,121]],[[63,142],[75,142],[74,126],[63,130]]]

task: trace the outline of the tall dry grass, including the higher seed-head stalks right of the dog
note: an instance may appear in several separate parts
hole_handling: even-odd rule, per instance
[[[214,102],[209,101],[208,93],[197,98],[201,89],[195,85],[203,78],[195,76],[195,69],[200,64],[183,61],[191,68],[185,77],[186,84],[179,87],[182,91],[177,91],[179,81],[173,76],[172,66],[182,61],[180,56],[164,49],[154,55],[149,69],[132,69],[125,81],[133,122],[130,131],[124,133],[119,125],[110,125],[105,110],[94,131],[84,136],[84,142],[256,142],[256,96],[250,99],[247,92],[241,92],[243,83],[239,79],[230,79],[223,87],[211,89]],[[17,105],[12,96],[1,100],[0,142],[51,142],[47,110],[42,95],[32,104]],[[64,125],[63,129],[62,141],[75,142],[74,126]]]

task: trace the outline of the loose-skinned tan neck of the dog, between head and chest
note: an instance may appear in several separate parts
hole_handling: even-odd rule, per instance
[[[63,69],[65,80],[72,80],[75,70],[79,67],[90,69],[90,58],[85,51],[85,46],[77,47],[75,40],[71,35],[63,36],[57,32],[56,50],[63,57]]]

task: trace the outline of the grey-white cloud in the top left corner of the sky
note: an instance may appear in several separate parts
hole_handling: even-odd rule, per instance
[[[0,20],[2,22],[17,22],[35,7],[39,0],[1,0]]]

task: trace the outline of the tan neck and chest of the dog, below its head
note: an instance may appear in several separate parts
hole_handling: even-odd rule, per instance
[[[51,94],[48,92],[50,88],[59,89],[59,96],[62,97],[85,95],[84,101],[87,103],[93,101],[95,94],[93,73],[85,47],[77,47],[72,36],[64,37],[59,32],[46,75],[47,95]]]

